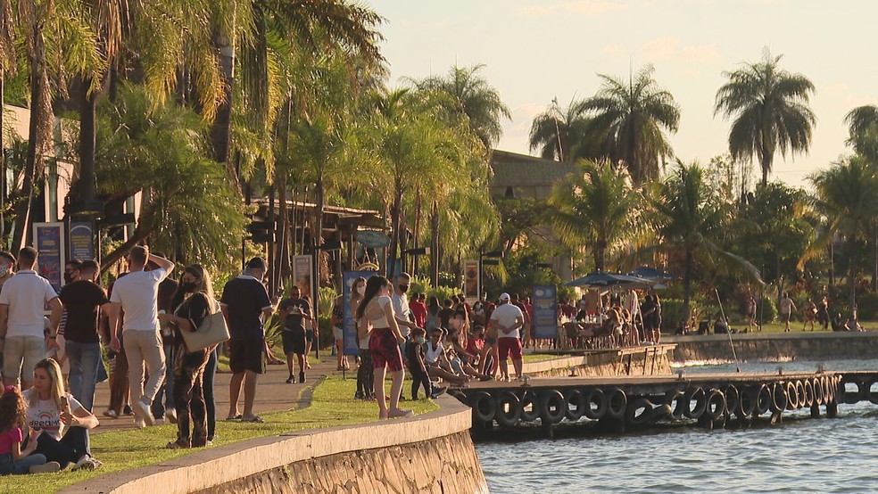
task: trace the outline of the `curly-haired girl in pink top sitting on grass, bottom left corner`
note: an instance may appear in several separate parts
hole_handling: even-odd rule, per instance
[[[58,462],[46,463],[46,457],[32,454],[43,431],[32,431],[28,446],[21,449],[21,425],[25,424],[28,405],[15,386],[6,386],[0,396],[0,474],[51,473],[61,470]]]

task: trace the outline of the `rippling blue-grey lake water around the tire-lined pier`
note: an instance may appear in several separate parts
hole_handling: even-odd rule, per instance
[[[816,362],[746,364],[742,372],[816,370]],[[878,360],[827,362],[878,369]],[[685,367],[686,374],[735,366]],[[875,492],[878,406],[840,405],[836,419],[785,412],[783,424],[705,431],[667,425],[609,435],[569,428],[556,440],[477,442],[491,492]],[[574,430],[576,429],[576,430]],[[559,436],[556,436],[559,437]]]

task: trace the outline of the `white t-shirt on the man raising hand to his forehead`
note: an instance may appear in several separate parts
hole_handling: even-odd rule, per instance
[[[122,329],[158,331],[159,284],[170,275],[170,270],[158,268],[137,271],[122,276],[112,284],[111,302],[122,304],[125,316]]]

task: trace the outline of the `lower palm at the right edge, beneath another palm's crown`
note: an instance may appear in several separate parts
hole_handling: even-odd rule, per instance
[[[857,306],[856,278],[859,268],[857,240],[878,218],[878,171],[874,163],[861,156],[846,158],[808,177],[814,185],[816,210],[825,218],[824,233],[817,238],[799,266],[823,251],[836,235],[843,235],[849,250],[849,309]]]

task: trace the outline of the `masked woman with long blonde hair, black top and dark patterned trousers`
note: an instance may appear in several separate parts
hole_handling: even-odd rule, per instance
[[[210,446],[208,440],[208,405],[204,399],[204,369],[214,347],[190,351],[182,332],[196,331],[205,317],[219,310],[213,298],[211,276],[200,264],[183,270],[171,307],[173,314],[160,314],[162,323],[175,326],[174,331],[174,405],[177,408],[177,440],[168,443],[168,449],[200,448]],[[171,365],[169,363],[169,365]],[[212,390],[211,390],[212,397]],[[216,421],[216,406],[214,423]],[[189,422],[192,432],[189,432]]]

